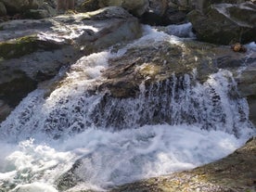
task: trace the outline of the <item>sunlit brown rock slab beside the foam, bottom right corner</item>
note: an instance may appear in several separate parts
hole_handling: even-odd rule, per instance
[[[244,147],[237,149],[223,160],[217,160],[191,171],[124,185],[111,192],[255,191],[255,156],[256,138],[254,137]]]

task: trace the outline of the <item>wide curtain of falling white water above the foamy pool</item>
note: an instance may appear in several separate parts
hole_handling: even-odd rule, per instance
[[[239,137],[241,127],[251,126],[247,101],[239,98],[227,70],[212,74],[202,84],[196,72],[180,77],[173,74],[170,79],[150,85],[142,83],[135,98],[90,93],[86,84],[67,85],[70,90],[64,85],[47,98],[42,90],[33,92],[1,124],[2,130],[6,128],[2,134],[25,139],[40,133],[57,139],[89,128],[118,131],[167,123],[197,124],[200,129]]]

